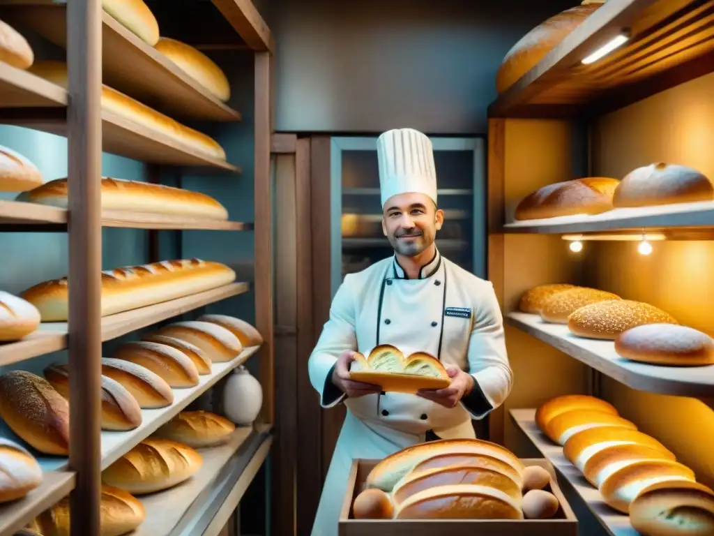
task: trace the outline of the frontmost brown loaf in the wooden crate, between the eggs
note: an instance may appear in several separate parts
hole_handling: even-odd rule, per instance
[[[396,507],[398,520],[522,520],[521,502],[495,487],[469,484],[430,487]]]

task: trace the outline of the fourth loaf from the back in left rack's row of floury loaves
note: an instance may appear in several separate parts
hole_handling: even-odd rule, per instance
[[[116,349],[114,358],[124,359],[151,370],[174,389],[198,385],[198,369],[191,358],[166,344],[146,341],[127,342]]]

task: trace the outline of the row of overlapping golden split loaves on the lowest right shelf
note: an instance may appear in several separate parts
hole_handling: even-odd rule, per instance
[[[597,487],[605,503],[653,536],[714,534],[714,492],[664,445],[640,432],[605,400],[555,397],[538,407],[535,424]]]

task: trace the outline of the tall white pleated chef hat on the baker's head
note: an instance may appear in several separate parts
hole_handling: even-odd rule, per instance
[[[431,140],[414,129],[393,129],[377,139],[382,208],[397,194],[426,194],[436,203],[436,168]]]

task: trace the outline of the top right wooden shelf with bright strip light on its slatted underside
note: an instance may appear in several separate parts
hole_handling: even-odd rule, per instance
[[[610,0],[488,107],[491,117],[597,115],[714,71],[714,3]],[[624,29],[628,42],[580,61]]]

